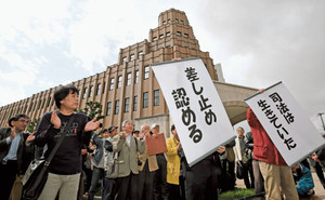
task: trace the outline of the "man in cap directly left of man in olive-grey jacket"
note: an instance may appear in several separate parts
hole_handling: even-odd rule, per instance
[[[112,145],[112,132],[116,132],[117,126],[110,126],[103,130],[103,138],[99,137],[99,134],[94,134],[92,143],[96,145],[96,151],[93,156],[93,172],[91,178],[91,186],[89,189],[89,200],[94,199],[94,194],[96,191],[96,186],[99,181],[102,178],[102,199],[108,200],[112,199],[113,190],[113,179],[105,178],[105,169],[107,166],[108,154],[113,154]],[[110,158],[112,159],[112,158]]]

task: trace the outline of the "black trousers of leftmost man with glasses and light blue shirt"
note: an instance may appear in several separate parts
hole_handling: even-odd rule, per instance
[[[1,199],[8,200],[17,175],[17,161],[9,160],[0,163]]]

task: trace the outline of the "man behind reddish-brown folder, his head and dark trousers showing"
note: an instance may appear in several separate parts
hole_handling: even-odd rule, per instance
[[[157,123],[153,123],[151,126],[151,135],[164,134],[159,133],[160,129]],[[155,187],[154,187],[154,199],[158,200],[168,199],[168,185],[167,185],[167,161],[164,152],[156,155],[158,170],[155,172]]]

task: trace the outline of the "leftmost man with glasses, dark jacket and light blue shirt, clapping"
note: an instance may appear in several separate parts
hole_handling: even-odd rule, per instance
[[[28,120],[26,115],[21,114],[9,120],[10,128],[0,128],[1,199],[9,199],[15,176],[23,174],[31,161],[32,147],[29,143],[35,136],[34,133],[24,133]]]

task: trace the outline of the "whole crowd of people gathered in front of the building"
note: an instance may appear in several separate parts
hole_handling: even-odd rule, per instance
[[[136,131],[133,121],[125,120],[118,132],[118,124],[101,128],[96,119],[75,112],[78,90],[74,86],[62,86],[54,101],[58,109],[42,116],[35,134],[24,132],[29,122],[26,115],[12,117],[8,128],[0,129],[1,199],[21,199],[15,181],[32,159],[50,155],[69,120],[40,200],[83,196],[92,200],[99,189],[102,200],[214,200],[234,189],[236,178],[243,178],[246,188],[255,188],[256,199],[298,200],[314,195],[310,165],[325,189],[325,150],[290,169],[250,108],[251,132],[237,128],[233,142],[190,166],[174,125],[169,138],[157,123],[142,124]],[[147,142],[161,135],[165,139],[158,146],[166,149],[152,154]]]

